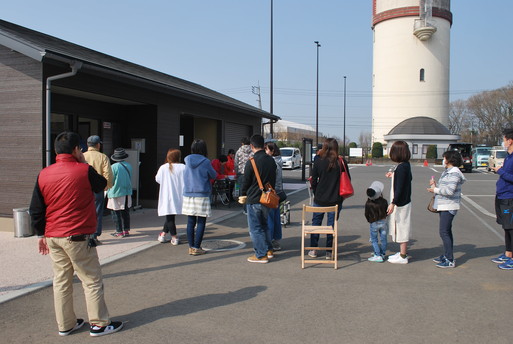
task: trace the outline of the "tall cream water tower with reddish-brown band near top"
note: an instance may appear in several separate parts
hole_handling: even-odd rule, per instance
[[[397,139],[387,135],[398,134],[392,129],[410,119],[429,118],[440,124],[433,127],[448,127],[450,5],[450,0],[373,0],[373,142]],[[418,130],[411,134],[418,137]],[[427,131],[425,139],[433,143],[437,134],[455,140],[448,130]]]

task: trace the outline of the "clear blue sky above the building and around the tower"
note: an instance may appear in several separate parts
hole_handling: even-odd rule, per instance
[[[274,0],[274,113],[342,137],[371,130],[372,0]],[[513,81],[513,1],[453,0],[451,101]],[[0,18],[269,111],[270,0],[4,1]]]

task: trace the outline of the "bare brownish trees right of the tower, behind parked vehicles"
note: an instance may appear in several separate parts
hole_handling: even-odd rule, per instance
[[[513,83],[449,104],[449,130],[461,141],[500,145],[504,128],[513,128]]]

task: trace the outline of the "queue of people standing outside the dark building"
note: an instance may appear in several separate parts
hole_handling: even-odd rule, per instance
[[[73,309],[73,275],[77,274],[85,291],[91,336],[115,333],[123,328],[123,322],[112,321],[106,306],[102,272],[96,246],[100,243],[101,216],[99,205],[106,191],[107,208],[112,210],[116,237],[126,237],[130,232],[129,209],[132,206],[132,167],[126,162],[128,154],[116,148],[110,166],[99,149],[98,136],[88,139],[86,154],[80,148],[76,133],[63,132],[55,139],[56,163],[44,168],[38,175],[30,204],[32,225],[38,234],[38,250],[49,254],[54,270],[54,306],[58,334],[67,336],[81,328],[85,320],[77,318]],[[245,148],[249,146],[250,151]],[[495,170],[499,175],[495,200],[497,222],[505,233],[505,252],[492,261],[503,270],[513,270],[513,129],[506,130],[503,146],[508,151],[502,167]],[[344,198],[339,184],[342,172],[349,174],[348,164],[338,155],[338,142],[326,139],[318,152],[312,169],[313,206],[338,205],[338,213],[328,213],[327,224],[333,225],[342,210]],[[240,154],[239,154],[240,153]],[[189,254],[205,254],[201,247],[206,219],[211,215],[211,180],[219,172],[236,173],[241,183],[239,203],[246,205],[249,235],[254,254],[247,258],[251,263],[268,263],[274,252],[281,249],[282,238],[279,210],[261,204],[261,185],[270,185],[280,196],[283,190],[282,163],[278,146],[264,142],[261,135],[242,140],[241,148],[228,156],[221,156],[213,163],[207,158],[205,141],[196,139],[191,154],[182,164],[177,149],[167,152],[165,163],[160,166],[155,180],[160,185],[158,215],[165,222],[158,240],[180,243],[176,230],[176,215],[186,215]],[[409,163],[411,153],[408,144],[396,141],[390,149],[390,159],[397,165],[386,173],[391,179],[390,204],[383,197],[384,184],[374,181],[367,188],[365,218],[370,224],[370,242],[373,253],[370,262],[407,264],[408,243],[411,232],[411,182]],[[245,163],[243,163],[245,159]],[[230,165],[229,161],[233,161]],[[434,194],[433,208],[439,214],[439,234],[443,254],[433,259],[439,268],[454,268],[454,238],[452,223],[460,209],[461,189],[466,178],[459,170],[462,158],[456,151],[443,154],[444,172],[438,182],[432,178],[427,191]],[[217,168],[213,167],[216,166]],[[233,167],[232,167],[233,166]],[[242,168],[243,167],[243,168]],[[231,171],[231,172],[230,172]],[[103,209],[102,209],[103,210]],[[98,217],[100,218],[98,219]],[[313,225],[321,225],[324,213],[314,213]],[[387,236],[399,243],[399,252],[386,256]],[[319,236],[311,235],[311,247],[318,247]],[[331,247],[333,237],[328,235],[326,247]],[[317,251],[308,255],[317,257]],[[330,250],[326,259],[335,259]]]

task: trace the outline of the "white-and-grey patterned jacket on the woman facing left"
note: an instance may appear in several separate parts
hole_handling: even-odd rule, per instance
[[[438,180],[438,186],[434,189],[436,196],[433,208],[438,211],[460,209],[461,186],[465,181],[458,167],[446,169]]]

